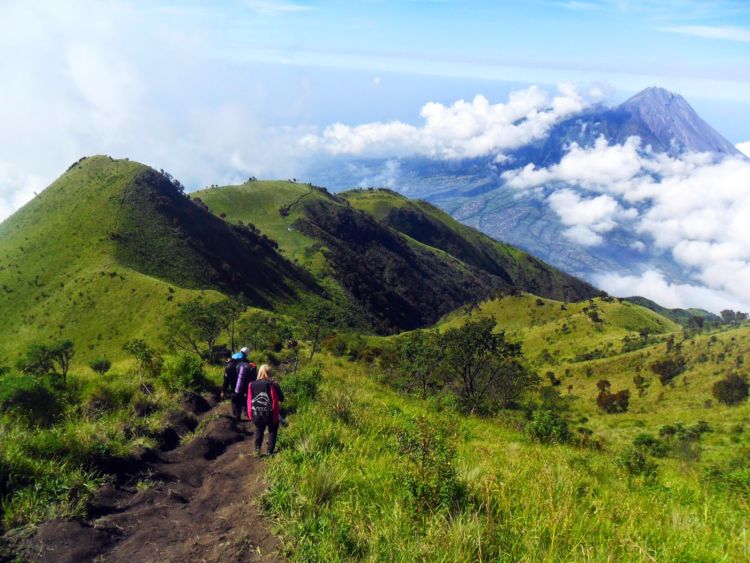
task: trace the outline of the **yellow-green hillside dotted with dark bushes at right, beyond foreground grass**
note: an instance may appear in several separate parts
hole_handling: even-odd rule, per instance
[[[723,325],[691,333],[625,300],[563,304],[524,295],[456,311],[439,328],[460,326],[478,316],[497,319],[498,329],[522,343],[524,355],[543,376],[542,385],[550,386],[546,374],[559,381],[555,388],[571,418],[585,418],[596,435],[615,445],[625,445],[644,431],[658,433],[666,424],[705,420],[716,432],[704,438],[702,447],[707,459],[716,461],[726,435],[750,412],[747,403],[732,408],[717,404],[711,392],[714,383],[728,373],[747,373],[748,326]],[[663,385],[651,366],[674,358],[684,360],[684,371]],[[643,391],[635,384],[637,376],[644,378]],[[597,382],[602,379],[615,391],[630,390],[628,412],[610,415],[597,407]]]

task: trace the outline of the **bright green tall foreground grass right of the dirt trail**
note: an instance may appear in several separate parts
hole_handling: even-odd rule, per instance
[[[266,506],[296,560],[660,560],[750,557],[748,496],[666,460],[651,482],[617,452],[544,446],[523,418],[461,417],[324,358],[321,397],[290,418]],[[418,510],[397,437],[418,417],[452,430],[468,494]]]

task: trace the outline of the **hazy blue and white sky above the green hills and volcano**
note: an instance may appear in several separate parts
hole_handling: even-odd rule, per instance
[[[537,111],[662,86],[750,152],[744,0],[0,4],[0,220],[84,155],[164,168],[189,189],[286,178],[330,155],[315,140],[336,124],[429,125],[442,151],[471,135],[456,115],[502,118],[492,108],[530,88],[547,96]]]

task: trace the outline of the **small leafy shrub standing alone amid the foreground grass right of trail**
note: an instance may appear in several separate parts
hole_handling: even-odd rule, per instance
[[[466,484],[455,467],[456,450],[447,430],[421,417],[398,436],[402,482],[417,512],[458,509],[466,500]]]

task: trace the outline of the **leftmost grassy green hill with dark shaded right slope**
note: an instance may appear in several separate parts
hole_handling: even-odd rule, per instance
[[[203,292],[268,307],[314,285],[271,241],[195,205],[161,173],[82,159],[0,225],[0,365],[60,338],[79,358],[116,358]]]

